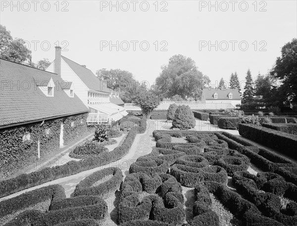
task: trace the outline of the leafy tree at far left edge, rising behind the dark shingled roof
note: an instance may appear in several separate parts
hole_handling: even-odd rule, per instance
[[[12,39],[10,31],[0,25],[0,57],[17,63],[31,65],[31,51],[20,38]]]

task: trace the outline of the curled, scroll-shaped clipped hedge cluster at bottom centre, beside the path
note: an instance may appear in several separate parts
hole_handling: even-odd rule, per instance
[[[140,200],[142,191],[155,193],[159,189],[164,202],[155,194],[145,196]],[[181,225],[185,218],[183,202],[182,188],[173,176],[163,173],[150,177],[145,173],[132,173],[125,178],[122,184],[119,223],[153,220]]]

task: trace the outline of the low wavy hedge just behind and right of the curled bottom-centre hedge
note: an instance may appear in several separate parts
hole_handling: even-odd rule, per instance
[[[195,187],[199,182],[204,180],[217,181],[223,184],[227,183],[228,180],[226,170],[219,166],[194,168],[175,164],[170,169],[170,174],[186,187]]]

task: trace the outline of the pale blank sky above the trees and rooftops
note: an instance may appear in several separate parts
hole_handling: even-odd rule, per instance
[[[212,84],[221,77],[229,81],[234,71],[243,80],[247,68],[255,78],[258,72],[267,73],[276,57],[280,56],[281,47],[297,37],[297,0],[256,3],[248,0],[247,4],[235,1],[234,11],[232,1],[211,1],[211,4],[218,5],[217,11],[215,7],[209,10],[209,1],[198,0],[158,1],[157,4],[154,0],[148,1],[147,11],[144,1],[126,1],[130,6],[128,11],[124,11],[127,4],[121,1],[113,1],[113,4],[118,2],[118,11],[116,7],[109,9],[110,1],[60,1],[58,11],[55,2],[14,1],[19,7],[11,8],[10,0],[1,0],[0,23],[10,30],[12,37],[31,43],[34,62],[42,58],[52,61],[54,46],[58,41],[64,49],[63,56],[87,65],[94,73],[100,68],[120,68],[132,72],[138,81],[147,80],[149,84],[161,72],[160,66],[167,64],[168,59],[176,54],[194,59],[198,69],[209,76]],[[229,6],[227,10],[226,3]],[[100,10],[100,4],[108,6]],[[136,5],[135,11],[133,4]],[[202,7],[203,4],[207,4],[206,7]],[[50,8],[46,11],[48,6]],[[62,11],[63,6],[68,11]],[[248,8],[244,11],[246,6]],[[161,11],[162,7],[167,11]],[[39,41],[36,50],[34,41]],[[102,46],[102,41],[111,41],[115,45],[119,41],[119,50],[112,47],[110,51],[109,46]],[[131,41],[138,41],[136,51],[133,51]],[[148,51],[141,50],[142,41],[148,42]],[[215,47],[209,51],[208,46],[201,46],[201,42],[215,44],[215,41],[218,41],[217,51]],[[234,51],[230,41],[237,42]],[[127,48],[125,42],[130,43],[128,51],[124,51]],[[229,48],[223,51],[226,42]],[[248,44],[246,51],[240,49],[239,42],[242,42],[242,49],[246,48],[245,43]],[[167,51],[160,51],[165,44]],[[142,47],[145,49],[146,43]],[[266,51],[259,51],[261,47]]]

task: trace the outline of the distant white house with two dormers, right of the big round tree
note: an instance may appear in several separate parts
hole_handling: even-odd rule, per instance
[[[227,104],[234,107],[241,104],[241,97],[238,89],[205,88],[202,91],[201,101],[206,104]]]

